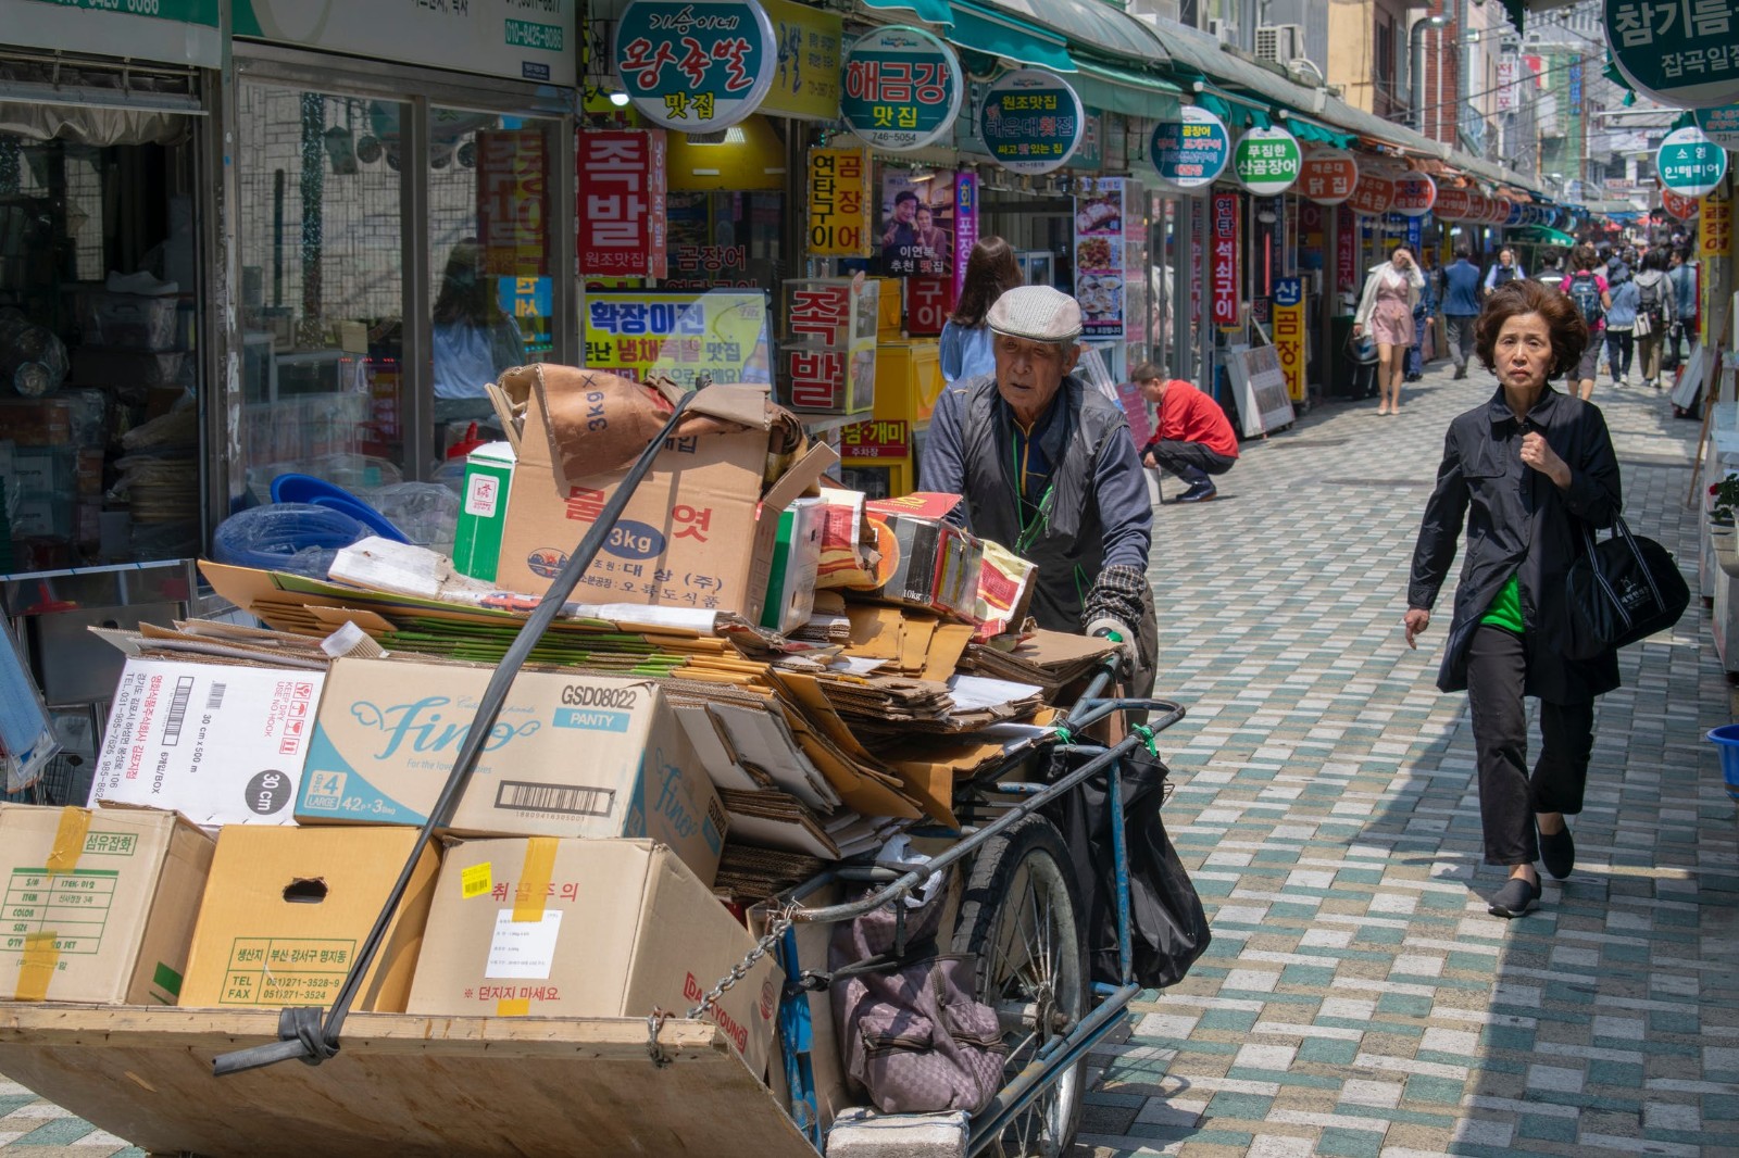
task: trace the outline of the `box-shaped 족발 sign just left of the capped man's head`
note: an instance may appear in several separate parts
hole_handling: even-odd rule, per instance
[[[861,414],[875,403],[880,282],[791,278],[783,283],[784,402],[793,410]]]

